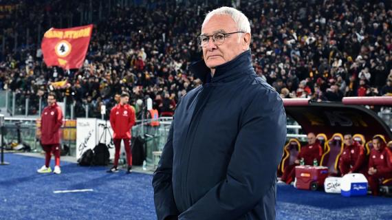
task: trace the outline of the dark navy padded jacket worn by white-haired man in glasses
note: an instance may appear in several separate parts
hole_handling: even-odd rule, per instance
[[[213,78],[204,61],[191,67],[204,84],[175,110],[153,177],[157,219],[275,219],[286,115],[250,55],[220,65]]]

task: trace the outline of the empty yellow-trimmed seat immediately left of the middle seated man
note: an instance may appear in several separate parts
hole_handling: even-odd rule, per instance
[[[338,174],[338,160],[343,151],[343,135],[334,133],[327,142],[327,151],[321,157],[321,166],[327,166],[329,175]]]

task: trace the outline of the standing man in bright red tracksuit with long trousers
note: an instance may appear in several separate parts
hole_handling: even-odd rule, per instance
[[[118,159],[120,158],[121,141],[124,140],[125,153],[127,154],[127,173],[132,171],[132,154],[131,154],[131,129],[135,124],[135,109],[129,104],[129,94],[122,93],[120,103],[110,111],[110,124],[113,129],[113,142],[116,151],[114,153],[113,167],[108,173],[118,172]]]

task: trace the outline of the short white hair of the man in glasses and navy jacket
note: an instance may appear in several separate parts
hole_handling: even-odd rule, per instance
[[[206,14],[206,18],[204,19],[202,28],[214,15],[230,16],[237,24],[237,30],[239,32],[245,32],[250,34],[250,23],[248,17],[246,17],[245,14],[243,14],[241,11],[230,7],[221,7],[208,12],[208,14]]]

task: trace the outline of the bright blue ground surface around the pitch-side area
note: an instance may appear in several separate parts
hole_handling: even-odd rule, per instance
[[[151,175],[109,174],[106,167],[61,162],[62,174],[38,174],[43,159],[6,154],[0,166],[0,219],[156,219]],[[53,161],[52,161],[53,164]],[[58,193],[55,190],[93,189]],[[276,219],[392,219],[392,198],[341,197],[278,186]]]

